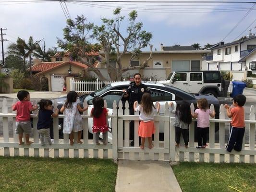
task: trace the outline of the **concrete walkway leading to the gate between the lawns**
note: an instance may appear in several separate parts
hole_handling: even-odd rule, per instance
[[[116,192],[182,192],[166,161],[119,160]]]

